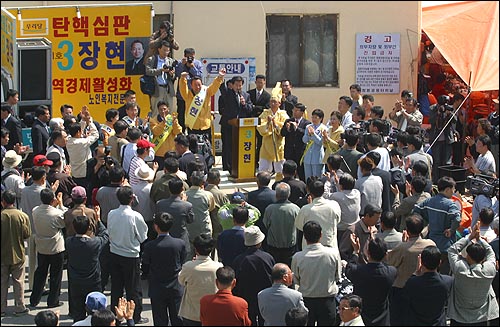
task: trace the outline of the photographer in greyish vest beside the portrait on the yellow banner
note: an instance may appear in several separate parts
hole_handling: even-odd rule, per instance
[[[155,77],[155,93],[150,96],[151,117],[158,116],[159,101],[165,101],[169,107],[173,107],[175,96],[176,60],[169,57],[170,44],[168,41],[161,41],[156,49],[156,54],[148,57],[146,61],[146,75]]]

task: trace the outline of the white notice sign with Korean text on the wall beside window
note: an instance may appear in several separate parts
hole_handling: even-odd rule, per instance
[[[356,83],[366,94],[399,94],[399,33],[356,34]]]

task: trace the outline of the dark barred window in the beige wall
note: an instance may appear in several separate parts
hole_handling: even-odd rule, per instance
[[[267,16],[267,82],[338,87],[337,15]]]

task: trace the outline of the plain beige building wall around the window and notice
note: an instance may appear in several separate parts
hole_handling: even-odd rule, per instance
[[[108,1],[111,3],[144,3],[148,1]],[[292,93],[309,108],[322,108],[329,115],[337,109],[338,98],[349,95],[355,82],[356,33],[400,33],[400,90],[416,92],[418,51],[421,30],[420,1],[153,1],[157,14],[168,14],[173,8],[175,37],[181,51],[193,47],[200,57],[255,57],[257,73],[266,72],[267,14],[338,14],[339,87],[295,87]],[[66,1],[65,5],[103,4],[95,1]],[[4,7],[19,2],[2,1]],[[59,1],[23,1],[28,6],[58,6]],[[172,6],[171,6],[172,5]],[[156,27],[155,27],[156,28]],[[293,81],[292,81],[293,83]],[[253,86],[252,86],[253,87]],[[399,95],[377,95],[375,103],[392,109]]]

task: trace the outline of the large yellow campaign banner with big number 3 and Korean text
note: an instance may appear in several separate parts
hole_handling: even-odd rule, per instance
[[[17,8],[9,11],[15,15]],[[146,116],[149,97],[140,89],[144,60],[139,58],[146,55],[152,33],[151,3],[25,7],[21,13],[18,39],[52,42],[54,117],[61,115],[63,104],[72,105],[75,114],[87,105],[94,119],[104,122],[107,109],[124,105],[127,90],[136,92],[141,116]]]

